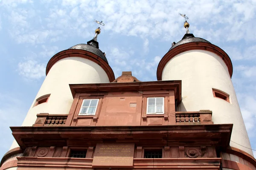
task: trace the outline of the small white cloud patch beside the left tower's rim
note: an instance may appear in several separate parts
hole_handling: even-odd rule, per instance
[[[27,79],[41,79],[45,76],[46,66],[35,60],[29,59],[18,63],[19,74]]]

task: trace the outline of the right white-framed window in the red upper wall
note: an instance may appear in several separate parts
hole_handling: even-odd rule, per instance
[[[163,114],[164,103],[163,97],[148,97],[147,114]]]

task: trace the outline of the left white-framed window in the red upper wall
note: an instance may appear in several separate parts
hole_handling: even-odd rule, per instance
[[[79,115],[95,115],[99,99],[84,99]]]

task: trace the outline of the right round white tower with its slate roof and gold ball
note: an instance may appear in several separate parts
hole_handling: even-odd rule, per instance
[[[189,25],[185,26],[188,31]],[[232,73],[225,51],[187,32],[161,59],[157,80],[182,80],[182,102],[177,111],[212,111],[214,124],[233,124],[230,146],[253,156]]]

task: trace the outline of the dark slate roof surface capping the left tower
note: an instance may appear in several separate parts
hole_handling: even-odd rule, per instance
[[[99,48],[95,48],[92,45],[87,45],[87,44],[77,44],[74,45],[73,47],[70,47],[68,49],[78,49],[78,50],[84,50],[84,51],[89,51],[97,56],[99,56],[100,58],[102,58],[105,62],[108,63],[107,58],[105,57],[104,53],[99,49]]]

